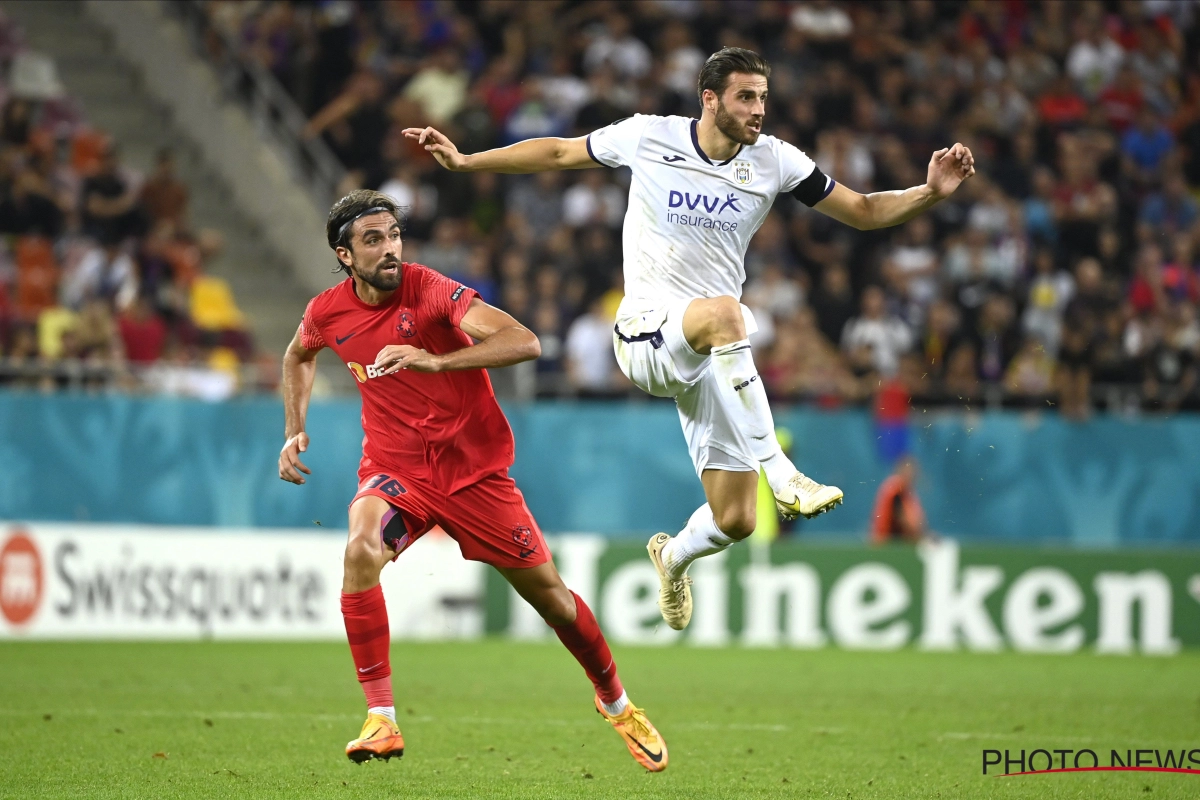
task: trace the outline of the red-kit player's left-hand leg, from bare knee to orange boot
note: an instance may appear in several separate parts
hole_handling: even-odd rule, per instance
[[[350,506],[350,535],[346,542],[342,577],[342,618],[350,643],[354,669],[367,700],[367,720],[358,739],[346,745],[346,754],[362,763],[404,754],[404,739],[396,726],[391,694],[391,660],[388,607],[379,573],[396,553],[384,543],[395,539],[403,524],[395,509],[374,495],[362,495]]]

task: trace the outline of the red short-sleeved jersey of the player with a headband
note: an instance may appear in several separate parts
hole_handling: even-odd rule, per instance
[[[347,278],[308,302],[300,343],[328,347],[346,362],[362,395],[360,473],[424,479],[450,494],[512,465],[512,431],[484,369],[378,375],[371,366],[388,344],[433,354],[470,347],[458,327],[474,289],[420,264],[402,264],[400,288],[378,306],[362,302]]]

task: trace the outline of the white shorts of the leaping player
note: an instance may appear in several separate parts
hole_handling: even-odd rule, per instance
[[[756,473],[758,461],[752,455],[749,439],[728,416],[727,403],[720,393],[722,386],[710,368],[712,360],[692,350],[684,338],[683,314],[690,303],[689,299],[674,300],[665,308],[641,314],[640,320],[625,320],[624,330],[636,330],[647,327],[637,325],[637,321],[662,319],[656,330],[632,336],[623,332],[623,320],[618,318],[612,336],[617,363],[643,392],[674,398],[696,475],[702,475],[706,469]],[[754,315],[745,306],[742,306],[742,315],[748,332],[757,330]],[[732,390],[725,391],[732,395]]]

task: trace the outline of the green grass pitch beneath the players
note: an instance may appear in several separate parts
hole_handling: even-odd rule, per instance
[[[394,644],[407,751],[362,766],[343,644],[2,644],[0,796],[1200,796],[1196,775],[980,775],[983,748],[1200,747],[1194,652],[616,656],[670,745],[661,775],[557,643]]]

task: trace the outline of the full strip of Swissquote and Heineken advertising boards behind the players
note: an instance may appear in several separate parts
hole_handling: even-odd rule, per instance
[[[344,533],[0,525],[2,638],[331,638]],[[624,644],[1171,655],[1200,645],[1200,552],[788,542],[697,561],[684,632],[637,542],[551,537],[568,585]],[[430,535],[383,573],[392,636],[522,639],[545,624]]]

